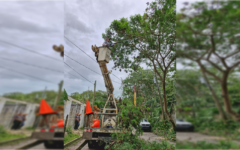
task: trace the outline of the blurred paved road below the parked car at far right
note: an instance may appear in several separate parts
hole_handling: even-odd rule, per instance
[[[197,132],[177,132],[177,141],[207,141],[209,143],[216,143],[220,140],[226,140],[224,137],[205,135]],[[240,141],[233,141],[240,144]]]

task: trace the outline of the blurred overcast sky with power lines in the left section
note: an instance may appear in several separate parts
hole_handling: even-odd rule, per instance
[[[44,90],[45,87],[47,90],[57,91],[58,83],[63,79],[63,58],[52,49],[52,46],[64,44],[63,1],[1,0],[0,18],[1,41],[57,59],[50,59],[0,41],[0,95],[9,92],[28,93]],[[22,63],[47,67],[60,72]]]

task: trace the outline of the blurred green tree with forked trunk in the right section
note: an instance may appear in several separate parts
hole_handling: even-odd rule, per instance
[[[198,2],[177,14],[178,55],[195,62],[207,83],[210,77],[219,82],[225,110],[238,121],[240,114],[232,109],[228,78],[240,65],[239,6],[237,0]],[[189,10],[195,12],[188,14]],[[211,86],[209,89],[222,118],[226,119],[220,98]]]

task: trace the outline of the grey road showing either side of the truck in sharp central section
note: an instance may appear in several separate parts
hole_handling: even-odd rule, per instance
[[[140,138],[142,138],[146,141],[149,140],[150,142],[156,141],[158,143],[161,143],[161,141],[164,140],[163,137],[155,135],[152,132],[143,132],[143,135],[140,136]],[[71,145],[71,146],[65,148],[64,150],[76,150],[76,148],[78,148],[83,142],[84,142],[84,140],[82,140],[80,142],[77,142],[74,145]],[[171,144],[174,144],[176,146],[176,142],[170,142],[170,141],[168,141],[168,142],[171,143]],[[99,149],[89,149],[88,144],[86,144],[82,148],[82,150],[99,150]]]

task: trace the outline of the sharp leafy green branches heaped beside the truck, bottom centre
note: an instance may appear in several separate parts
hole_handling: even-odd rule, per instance
[[[138,104],[141,101],[138,99]],[[129,150],[174,150],[175,146],[169,144],[167,141],[162,141],[162,143],[148,142],[139,138],[139,135],[142,135],[143,131],[140,127],[140,121],[144,114],[150,111],[149,107],[144,105],[133,105],[133,101],[130,99],[123,99],[123,104],[119,104],[120,113],[118,118],[120,120],[119,127],[124,129],[122,133],[113,134],[113,142],[108,143],[106,149],[129,149]],[[169,124],[170,125],[170,124]],[[171,127],[171,125],[170,125]]]

